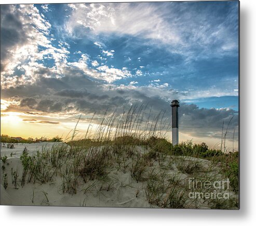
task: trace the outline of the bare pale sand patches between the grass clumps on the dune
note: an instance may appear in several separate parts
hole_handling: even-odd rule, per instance
[[[147,202],[145,187],[146,181],[136,182],[130,175],[131,160],[127,159],[127,167],[123,170],[117,170],[113,167],[111,173],[107,176],[108,180],[105,182],[102,180],[89,180],[84,183],[82,178],[78,179],[78,189],[75,194],[63,193],[62,180],[60,175],[57,175],[52,182],[46,184],[25,183],[23,187],[20,185],[15,189],[14,184],[11,181],[11,168],[19,172],[19,178],[22,176],[22,164],[20,156],[24,147],[29,150],[29,155],[33,155],[42,150],[42,147],[47,146],[51,148],[52,145],[60,145],[60,143],[47,142],[37,144],[18,144],[15,149],[9,149],[7,147],[1,147],[1,156],[8,156],[5,165],[4,173],[8,175],[8,187],[3,187],[3,170],[1,169],[1,204],[2,205],[49,205],[49,206],[98,206],[98,207],[155,207]],[[143,148],[140,148],[140,152],[144,152]],[[12,152],[12,157],[10,153]],[[173,163],[168,165],[166,163],[167,174],[180,176],[180,184],[184,186],[187,183],[189,175],[182,173],[177,169],[177,162],[198,161],[201,164],[201,168],[208,169],[210,162],[204,159],[196,159],[191,157],[168,157],[173,158]],[[168,159],[167,158],[167,159]],[[168,161],[167,161],[168,162]],[[1,166],[3,162],[1,161]],[[152,161],[150,169],[156,169],[160,171],[159,163]],[[212,168],[214,174],[218,174],[218,168]],[[146,175],[144,175],[146,177]],[[111,183],[110,189],[107,189]],[[19,182],[20,184],[20,182]],[[231,192],[232,193],[232,192]],[[234,192],[232,193],[234,195]],[[194,208],[194,204],[187,204],[186,207]],[[209,208],[207,202],[201,203],[200,208]]]

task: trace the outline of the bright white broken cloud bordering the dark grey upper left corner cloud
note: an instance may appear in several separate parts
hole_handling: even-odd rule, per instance
[[[33,5],[10,5],[9,13],[15,14],[16,19],[22,24],[22,37],[25,41],[19,45],[14,44],[6,52],[7,58],[1,58],[1,64],[4,64],[4,70],[1,73],[2,87],[32,83],[39,76],[35,73],[37,70],[51,70],[52,76],[58,73],[60,66],[66,63],[70,53],[65,47],[56,48],[51,44],[50,34],[51,24],[39,13],[39,10]],[[1,15],[4,17],[4,14]],[[8,27],[9,28],[9,27]],[[40,51],[39,46],[45,49]],[[43,64],[37,63],[44,58],[53,58],[55,68],[46,69]],[[23,75],[20,78],[14,76],[15,70],[21,69]],[[17,83],[19,80],[20,83]]]

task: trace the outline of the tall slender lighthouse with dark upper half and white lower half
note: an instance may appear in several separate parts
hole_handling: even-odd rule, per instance
[[[179,144],[179,107],[180,103],[178,100],[171,101],[171,137],[173,145]]]

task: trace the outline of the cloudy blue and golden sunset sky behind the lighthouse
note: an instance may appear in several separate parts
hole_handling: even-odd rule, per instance
[[[232,118],[237,149],[238,60],[237,1],[1,5],[1,134],[65,137],[140,104],[169,120],[178,99],[180,141],[218,146]]]

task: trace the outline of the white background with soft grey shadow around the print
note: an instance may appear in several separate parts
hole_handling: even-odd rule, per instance
[[[6,0],[4,4],[78,2],[107,1]],[[1,225],[253,225],[256,222],[255,2],[240,1],[240,210],[0,206]]]

